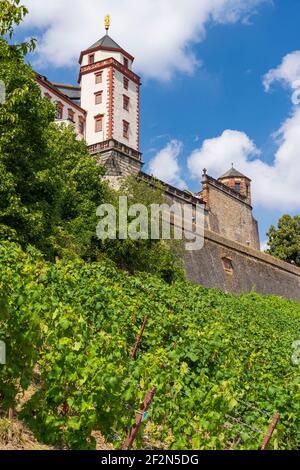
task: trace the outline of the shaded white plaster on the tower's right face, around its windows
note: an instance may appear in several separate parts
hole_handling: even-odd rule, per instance
[[[128,147],[138,150],[138,92],[137,85],[129,80],[128,90],[125,90],[123,74],[118,70],[114,72],[114,139],[124,143]],[[130,99],[129,111],[123,109],[123,95]],[[130,123],[129,139],[123,137],[123,120]]]

